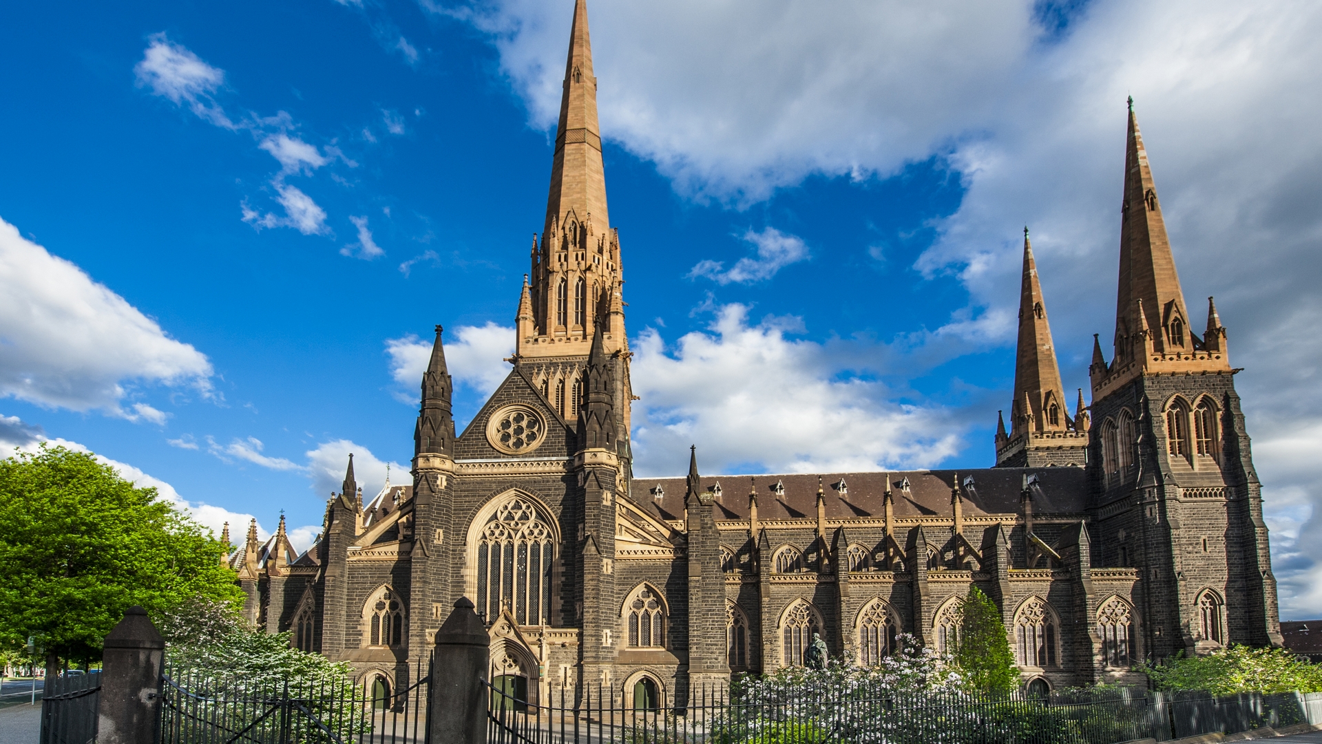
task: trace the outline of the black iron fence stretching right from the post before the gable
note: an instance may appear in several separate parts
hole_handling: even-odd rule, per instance
[[[690,686],[662,703],[650,690],[559,687],[530,700],[512,687],[486,686],[488,744],[1116,744],[1322,722],[1322,694],[896,696],[866,685],[792,694],[714,685]]]

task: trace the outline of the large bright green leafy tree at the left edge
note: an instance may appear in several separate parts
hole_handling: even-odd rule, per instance
[[[201,525],[83,452],[42,444],[0,460],[0,648],[33,637],[48,674],[100,658],[131,605],[155,621],[200,600],[239,603]]]

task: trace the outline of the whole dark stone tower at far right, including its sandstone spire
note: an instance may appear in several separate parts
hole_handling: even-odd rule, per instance
[[[1093,344],[1089,482],[1100,566],[1134,567],[1154,657],[1281,642],[1261,489],[1208,299],[1192,332],[1133,99],[1114,355]]]

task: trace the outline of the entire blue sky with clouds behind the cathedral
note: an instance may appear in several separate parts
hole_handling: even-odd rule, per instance
[[[1322,15],[1277,5],[595,0],[639,472],[690,441],[707,472],[990,465],[1025,223],[1067,387],[1110,336],[1132,94],[1190,307],[1247,367],[1282,613],[1322,612]],[[0,445],[308,538],[345,453],[369,489],[407,466],[436,322],[465,423],[508,370],[570,9],[0,9]]]

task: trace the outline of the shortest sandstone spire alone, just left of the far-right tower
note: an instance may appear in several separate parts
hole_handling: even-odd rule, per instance
[[[1038,281],[1038,264],[1032,258],[1032,243],[1029,229],[1023,229],[1023,278],[1019,287],[1019,348],[1014,365],[1014,404],[1029,406],[1026,411],[1015,411],[1011,416],[1014,429],[1011,436],[1023,432],[1027,426],[1034,433],[1064,431],[1069,416],[1066,412],[1064,386],[1060,383],[1060,367],[1056,365],[1056,350],[1051,342],[1051,325],[1047,322],[1047,307],[1042,299],[1042,284]]]

